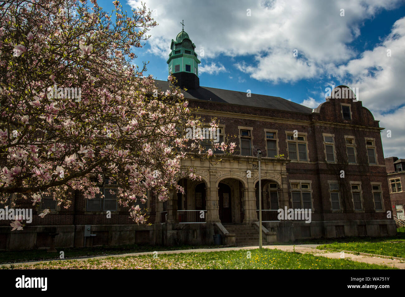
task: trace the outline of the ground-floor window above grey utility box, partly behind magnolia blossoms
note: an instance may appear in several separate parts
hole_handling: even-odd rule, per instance
[[[104,184],[99,186],[100,194],[87,199],[87,211],[117,211],[117,188],[114,186],[116,183],[110,183],[109,178],[104,179]]]

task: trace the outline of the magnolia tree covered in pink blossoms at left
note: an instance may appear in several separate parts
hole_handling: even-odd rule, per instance
[[[91,199],[109,177],[119,203],[145,223],[136,202],[145,202],[146,191],[159,200],[183,192],[179,178],[200,177],[181,159],[211,160],[213,152],[199,144],[202,135],[185,133],[203,123],[171,76],[162,92],[143,76],[145,63],[133,63],[157,25],[145,4],[128,15],[118,1],[109,13],[91,2],[0,4],[0,202],[17,193],[38,205],[52,195],[67,208],[70,190]],[[209,128],[216,127],[212,119]],[[213,143],[222,151],[234,147]]]

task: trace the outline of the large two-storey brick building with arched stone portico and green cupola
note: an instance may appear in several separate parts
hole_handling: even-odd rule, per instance
[[[167,61],[179,86],[185,87],[189,107],[199,107],[207,123],[220,122],[220,141],[237,144],[234,154],[217,154],[222,161],[185,160],[195,166],[203,181],[179,180],[185,194],[171,200],[150,197],[151,225],[136,225],[128,209],[117,205],[102,185],[104,199],[86,201],[71,193],[68,209],[43,199],[31,224],[11,232],[9,221],[0,222],[0,249],[55,246],[95,246],[129,243],[212,244],[222,235],[224,244],[258,240],[258,150],[262,152],[261,185],[263,242],[340,236],[396,234],[390,189],[377,120],[345,86],[338,86],[316,109],[280,97],[202,87],[198,79],[195,45],[184,31],[171,42]],[[166,91],[168,82],[157,81]],[[210,145],[209,142],[203,143]],[[281,158],[279,155],[284,155]],[[18,201],[30,208],[29,201]],[[280,220],[278,209],[311,209],[311,223]],[[40,208],[52,213],[41,219]],[[106,211],[111,211],[107,218]],[[86,226],[86,227],[85,227]],[[90,228],[90,230],[85,230]],[[95,236],[85,236],[94,234]]]

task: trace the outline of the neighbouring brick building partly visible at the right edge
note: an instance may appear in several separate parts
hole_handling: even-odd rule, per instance
[[[405,183],[405,159],[397,157],[385,158],[392,212],[405,221],[405,192],[402,185]]]

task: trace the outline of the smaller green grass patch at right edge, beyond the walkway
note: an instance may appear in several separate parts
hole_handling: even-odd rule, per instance
[[[390,257],[405,258],[405,240],[382,240],[382,241],[358,241],[358,242],[334,242],[318,246],[317,249],[337,249],[384,255]]]

